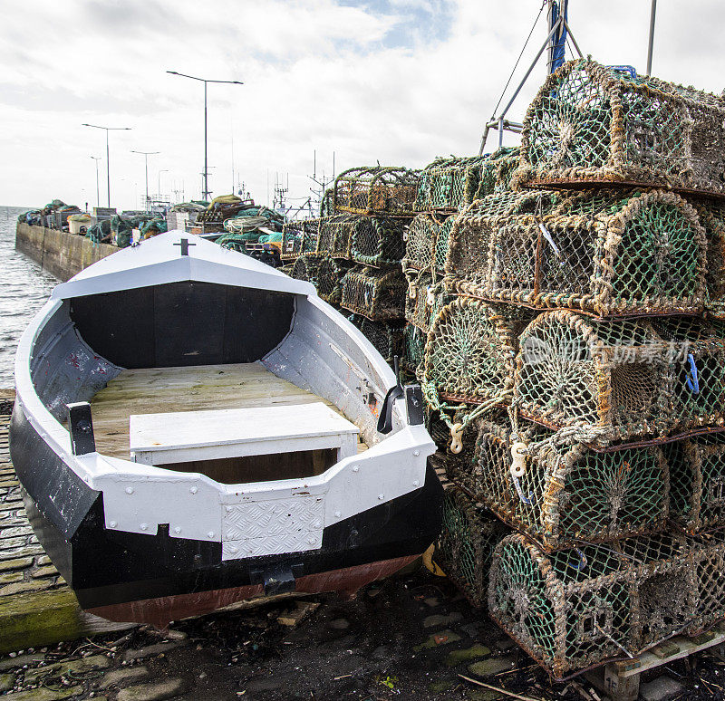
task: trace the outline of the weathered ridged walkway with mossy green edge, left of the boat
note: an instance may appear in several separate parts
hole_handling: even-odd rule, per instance
[[[43,552],[10,462],[9,424],[0,415],[0,654],[130,628],[81,610]]]

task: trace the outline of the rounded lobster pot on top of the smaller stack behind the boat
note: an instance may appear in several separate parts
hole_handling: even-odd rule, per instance
[[[350,168],[334,181],[336,212],[413,216],[418,171],[383,166]]]

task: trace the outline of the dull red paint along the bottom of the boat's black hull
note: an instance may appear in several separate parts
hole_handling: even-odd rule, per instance
[[[339,591],[352,596],[361,587],[401,570],[417,557],[419,555],[408,555],[392,560],[346,567],[342,570],[308,574],[295,582],[295,591],[304,594]],[[172,620],[199,616],[237,601],[256,599],[261,596],[264,596],[264,588],[261,584],[256,584],[247,587],[198,591],[193,594],[178,594],[157,599],[143,599],[111,606],[98,606],[88,609],[88,612],[101,616],[103,619],[124,623],[150,623],[152,626],[164,629]]]

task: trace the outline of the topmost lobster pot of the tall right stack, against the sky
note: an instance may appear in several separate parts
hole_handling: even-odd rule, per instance
[[[723,171],[721,97],[581,59],[550,75],[529,106],[515,179],[722,195]]]

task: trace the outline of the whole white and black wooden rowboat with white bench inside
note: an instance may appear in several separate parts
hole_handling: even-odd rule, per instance
[[[438,534],[420,388],[246,255],[169,232],[104,258],[55,288],[15,380],[31,523],[105,618],[353,592]]]

